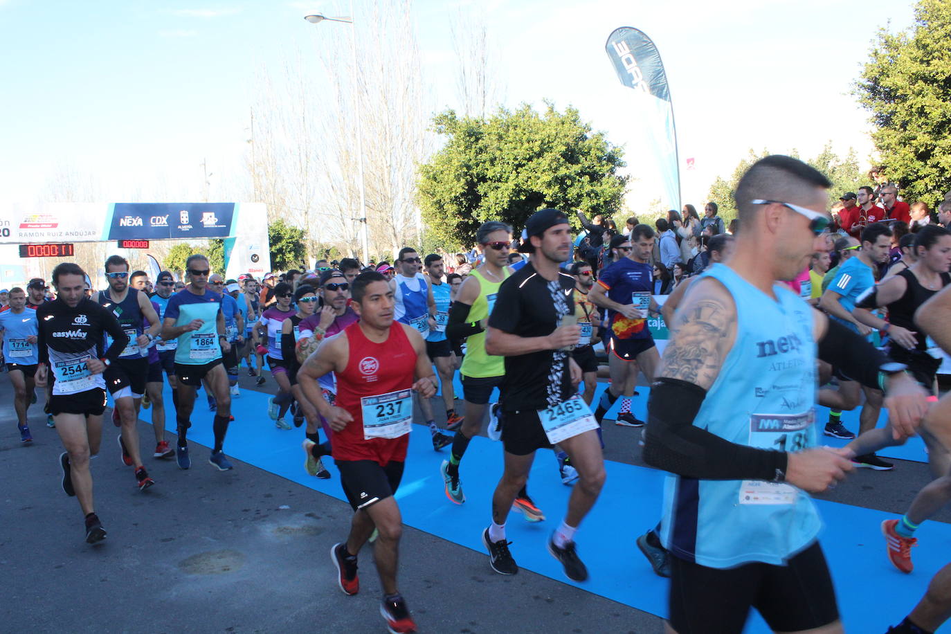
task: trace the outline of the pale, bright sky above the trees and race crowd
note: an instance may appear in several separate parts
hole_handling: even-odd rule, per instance
[[[357,2],[354,10],[367,13]],[[307,13],[347,3],[0,0],[0,188],[44,200],[71,174],[106,201],[240,190],[254,77],[288,51],[326,46]],[[623,144],[635,213],[660,187],[631,120],[629,88],[605,53],[611,30],[645,31],[663,58],[676,119],[683,202],[703,204],[749,149],[800,156],[827,142],[874,160],[866,112],[850,94],[877,29],[907,29],[910,2],[858,0],[417,0],[414,28],[433,111],[457,107],[453,16],[477,12],[504,106],[577,107]],[[320,64],[315,81],[330,81]],[[695,167],[686,169],[692,158]],[[89,176],[91,175],[91,177]],[[68,179],[66,179],[68,181]],[[166,199],[163,199],[166,200]]]

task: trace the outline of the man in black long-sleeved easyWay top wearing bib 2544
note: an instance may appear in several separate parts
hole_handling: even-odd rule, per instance
[[[53,269],[57,298],[36,311],[36,385],[51,384],[49,411],[66,449],[60,454],[63,490],[79,501],[86,520],[86,541],[95,544],[106,538],[106,529],[92,502],[89,453],[98,453],[102,441],[106,410],[103,371],[122,354],[128,336],[111,311],[84,297],[85,276],[72,262]],[[100,356],[107,334],[112,344]]]

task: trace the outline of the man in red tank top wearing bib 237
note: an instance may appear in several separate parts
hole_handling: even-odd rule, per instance
[[[357,555],[377,528],[374,561],[383,601],[380,613],[391,632],[414,632],[416,623],[397,586],[402,519],[394,497],[402,477],[413,425],[412,392],[436,394],[436,376],[415,328],[394,323],[396,301],[386,279],[362,273],[354,281],[353,305],[360,320],[327,339],[301,367],[303,394],[334,431],[334,459],[343,492],[354,509],[346,542],[331,548],[337,583],[359,592]],[[317,380],[337,376],[337,405],[320,394]]]

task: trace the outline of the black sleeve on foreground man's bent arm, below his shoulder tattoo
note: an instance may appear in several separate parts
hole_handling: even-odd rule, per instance
[[[703,388],[676,378],[650,386],[644,462],[651,467],[704,480],[766,480],[786,472],[784,451],[737,445],[694,427],[707,396]]]

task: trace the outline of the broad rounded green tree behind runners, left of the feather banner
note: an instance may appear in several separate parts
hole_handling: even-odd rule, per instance
[[[499,108],[488,120],[458,117],[454,110],[433,122],[446,144],[420,167],[423,219],[444,247],[475,240],[484,221],[504,221],[516,231],[535,211],[557,207],[610,216],[622,203],[627,176],[622,149],[549,103],[544,113],[523,105]]]

